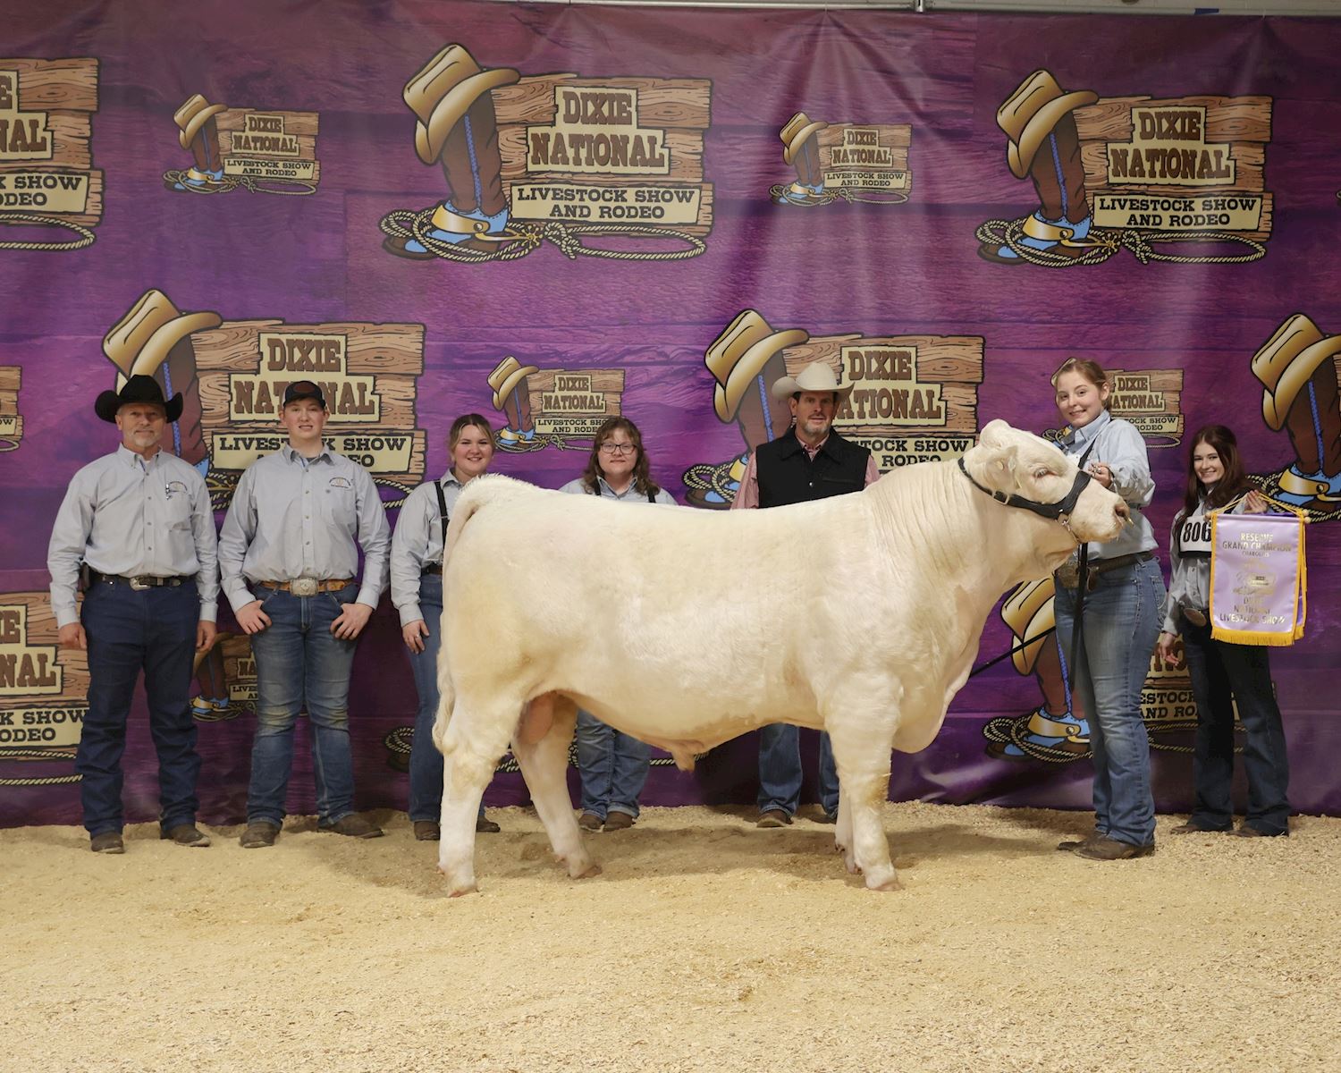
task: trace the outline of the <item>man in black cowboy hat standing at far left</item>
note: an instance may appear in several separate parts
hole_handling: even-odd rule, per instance
[[[59,642],[89,652],[89,712],[75,770],[94,853],[123,853],[121,754],[139,671],[158,751],[160,834],[208,846],[196,828],[196,724],[190,675],[196,651],[215,642],[219,565],[215,515],[200,472],[160,449],[182,398],[164,400],[153,377],[103,392],[94,412],[114,421],[121,445],[70,482],[47,549]],[[80,566],[89,571],[76,609]]]

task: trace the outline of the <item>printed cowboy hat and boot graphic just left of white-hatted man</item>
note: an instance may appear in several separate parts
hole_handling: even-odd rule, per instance
[[[791,427],[791,412],[774,401],[770,385],[787,374],[782,351],[809,338],[801,329],[774,331],[759,313],[744,310],[713,339],[703,358],[716,380],[712,408],[723,424],[739,425],[746,449],[730,461],[689,468],[687,477],[693,477],[687,499],[692,506],[727,510],[740,488],[750,452]]]

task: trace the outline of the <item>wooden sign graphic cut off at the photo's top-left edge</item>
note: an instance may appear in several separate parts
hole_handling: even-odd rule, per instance
[[[102,172],[91,149],[97,110],[98,60],[0,58],[0,219],[102,220]]]

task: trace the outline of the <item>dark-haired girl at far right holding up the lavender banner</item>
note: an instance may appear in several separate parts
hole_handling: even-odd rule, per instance
[[[1211,637],[1211,518],[1215,511],[1262,514],[1267,500],[1243,475],[1239,445],[1224,425],[1207,425],[1192,437],[1183,510],[1169,538],[1169,597],[1160,633],[1160,657],[1173,665],[1183,653],[1196,697],[1192,754],[1195,802],[1175,834],[1226,832],[1244,838],[1289,836],[1290,762],[1281,710],[1271,689],[1271,665],[1263,645],[1238,645]],[[1232,697],[1232,699],[1231,699]],[[1230,782],[1234,778],[1234,704],[1243,724],[1243,767],[1248,809],[1234,828]]]

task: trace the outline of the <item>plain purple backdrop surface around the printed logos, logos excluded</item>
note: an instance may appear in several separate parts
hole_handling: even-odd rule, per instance
[[[213,310],[225,322],[421,325],[424,372],[413,425],[426,431],[430,476],[447,464],[444,436],[455,414],[502,418],[487,380],[504,355],[542,370],[622,370],[622,412],[640,424],[656,476],[681,500],[689,467],[719,464],[743,449],[740,427],[713,412],[716,381],[704,354],[744,310],[811,337],[980,337],[982,382],[972,410],[979,428],[1004,417],[1055,429],[1047,376],[1067,355],[1125,372],[1180,370],[1176,410],[1184,437],[1210,421],[1234,425],[1250,471],[1269,488],[1297,461],[1297,445],[1262,417],[1254,354],[1298,313],[1324,335],[1341,331],[1341,267],[1330,245],[1341,228],[1334,62],[1341,25],[1324,20],[437,0],[319,8],[237,0],[227,11],[169,11],[145,0],[8,0],[0,7],[7,28],[0,72],[5,58],[98,60],[91,156],[106,186],[87,248],[0,249],[0,428],[7,382],[16,385],[21,417],[21,435],[0,441],[16,444],[0,453],[0,605],[46,589],[47,534],[64,487],[75,469],[115,445],[114,431],[91,417],[94,396],[115,378],[102,338],[150,288],[184,311]],[[382,217],[430,208],[447,196],[443,172],[416,157],[416,119],[402,89],[452,42],[484,68],[512,67],[523,76],[711,80],[701,170],[712,185],[712,221],[704,252],[679,262],[574,260],[546,243],[518,260],[481,264],[388,255]],[[1274,204],[1270,236],[1258,240],[1265,255],[1238,264],[1144,263],[1120,249],[1102,263],[1067,268],[978,256],[980,224],[1016,220],[1039,204],[1034,186],[1007,168],[996,113],[1041,68],[1067,91],[1088,89],[1100,98],[1270,98],[1262,176]],[[173,114],[197,93],[233,109],[318,113],[316,193],[165,189],[165,170],[190,165]],[[802,110],[831,123],[911,126],[908,200],[772,204],[770,186],[797,177],[783,161],[779,130]],[[0,240],[9,237],[60,241],[70,235],[0,229]],[[629,239],[621,248],[679,244]],[[196,345],[198,354],[198,338]],[[1333,365],[1324,368],[1334,369],[1328,361]],[[1321,420],[1325,431],[1341,413]],[[557,487],[581,471],[586,456],[581,437],[566,445],[500,452],[495,469]],[[1152,443],[1159,491],[1149,514],[1161,545],[1179,503],[1185,451],[1185,439],[1167,448]],[[219,487],[225,496],[227,486]],[[393,503],[400,494],[386,483],[384,495]],[[1338,814],[1333,679],[1341,655],[1334,629],[1341,527],[1328,520],[1326,502],[1311,506],[1320,523],[1309,527],[1307,634],[1273,653],[1273,665],[1290,742],[1291,799],[1302,811]],[[40,632],[35,614],[20,648],[50,659],[54,634]],[[223,626],[228,616],[221,617]],[[897,636],[880,640],[900,644]],[[983,657],[1004,652],[1011,640],[994,616]],[[17,633],[0,636],[0,652],[16,652],[5,642],[19,641]],[[1010,661],[974,679],[931,747],[896,755],[890,795],[1086,806],[1088,759],[1074,752],[1003,759],[987,751],[984,726],[992,719],[1006,726],[1038,708],[1039,681]],[[1152,683],[1157,687],[1159,677]],[[1169,688],[1176,691],[1176,683]],[[9,727],[0,720],[0,825],[79,820],[68,748],[43,751],[40,738],[12,732],[25,711],[52,704],[0,680],[0,714],[9,714]],[[412,722],[414,691],[389,600],[359,645],[350,707],[359,805],[404,807],[397,742],[405,738],[397,731]],[[225,715],[200,727],[202,818],[211,822],[243,818],[253,718],[245,704]],[[1189,803],[1185,715],[1151,720],[1157,803],[1167,810]],[[127,818],[145,820],[157,811],[156,763],[142,708],[133,722]],[[298,755],[290,805],[311,811],[306,751]],[[645,801],[750,801],[754,786],[750,736],[716,750],[692,775],[656,767]],[[491,803],[523,799],[515,774],[500,774],[487,797]]]

